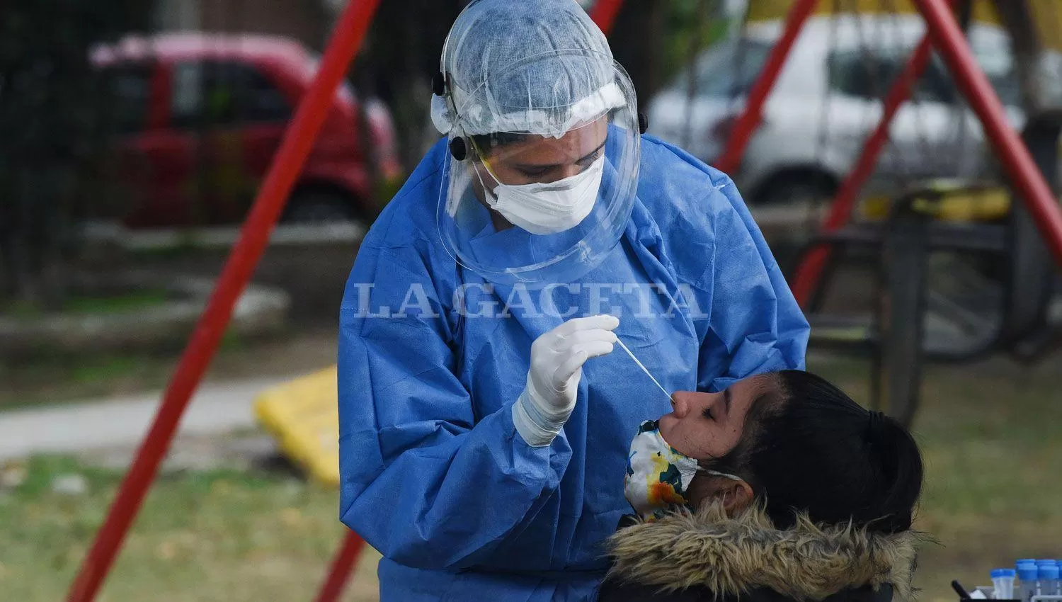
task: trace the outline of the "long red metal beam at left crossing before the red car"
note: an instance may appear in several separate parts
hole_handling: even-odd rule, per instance
[[[298,103],[294,119],[288,126],[258,191],[258,197],[243,224],[240,239],[233,247],[206,309],[181,357],[133,466],[125,475],[107,518],[70,587],[68,601],[92,600],[109,572],[130,524],[136,518],[170,447],[188,400],[218,349],[233,308],[266,251],[273,226],[325,121],[336,88],[361,46],[378,4],[379,0],[352,0],[340,15],[321,61],[321,69]]]

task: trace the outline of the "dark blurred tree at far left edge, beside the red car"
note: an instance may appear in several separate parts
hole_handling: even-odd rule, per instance
[[[0,298],[57,307],[105,137],[93,44],[143,31],[140,0],[12,0],[0,19]]]

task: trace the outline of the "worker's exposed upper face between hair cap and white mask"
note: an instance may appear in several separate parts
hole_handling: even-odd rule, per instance
[[[485,157],[474,165],[481,180],[492,188],[495,182],[513,186],[549,184],[578,175],[601,158],[607,134],[609,121],[602,117],[561,138],[529,135],[491,150],[480,149]]]

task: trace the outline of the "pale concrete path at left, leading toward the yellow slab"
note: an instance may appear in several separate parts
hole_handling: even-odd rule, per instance
[[[257,426],[255,396],[287,379],[210,383],[200,388],[178,435],[217,435]],[[135,446],[148,431],[161,393],[0,413],[0,462],[34,453]]]

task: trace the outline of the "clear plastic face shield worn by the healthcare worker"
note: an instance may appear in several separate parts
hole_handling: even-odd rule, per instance
[[[548,79],[559,64],[599,85],[572,93],[570,81]],[[492,84],[547,87],[498,94]],[[627,227],[640,160],[637,103],[622,67],[585,50],[552,51],[475,90],[447,87],[455,123],[436,213],[447,252],[502,285],[570,282],[599,264]],[[520,100],[506,102],[512,98]]]

